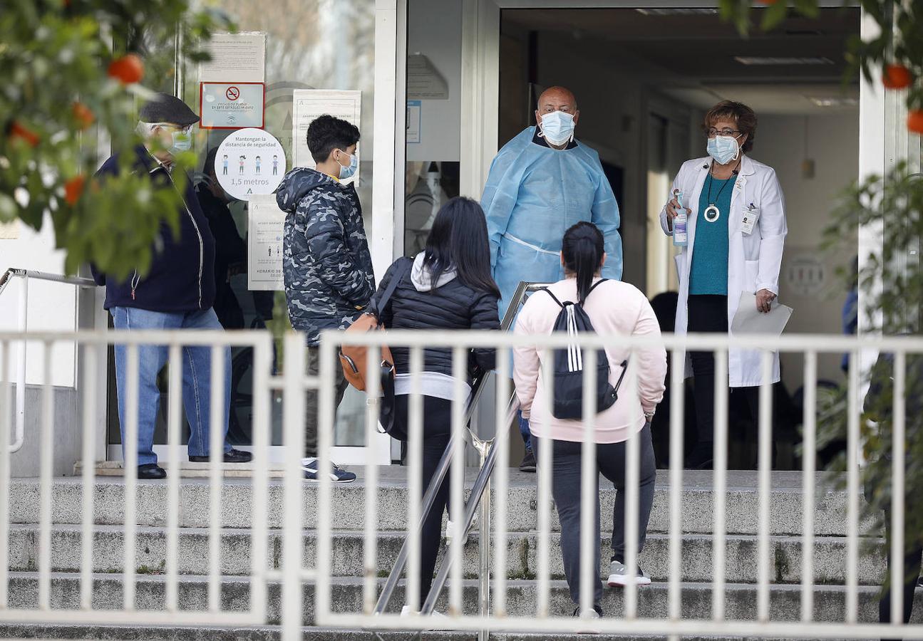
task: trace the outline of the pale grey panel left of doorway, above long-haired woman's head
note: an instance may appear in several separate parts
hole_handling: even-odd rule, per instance
[[[426,55],[449,84],[449,100],[423,101],[420,142],[408,143],[407,160],[457,162],[461,156],[462,0],[411,0],[407,22],[407,53]]]

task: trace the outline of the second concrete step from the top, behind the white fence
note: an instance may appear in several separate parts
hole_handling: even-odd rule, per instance
[[[387,572],[393,566],[406,536],[403,531],[382,531],[378,534],[378,566]],[[124,533],[121,526],[97,526],[93,532],[93,570],[101,573],[122,572],[124,569]],[[221,534],[222,574],[246,576],[250,573],[252,530],[223,529]],[[52,567],[61,572],[78,572],[81,559],[81,532],[78,526],[55,526],[52,533]],[[464,573],[478,576],[478,532],[473,532],[465,546]],[[305,564],[314,566],[317,535],[304,535]],[[874,585],[881,579],[884,557],[881,540],[860,541],[860,582]],[[551,536],[551,573],[563,578],[560,537]],[[601,540],[602,558],[611,555],[609,540]],[[682,542],[684,581],[711,581],[713,576],[713,537],[690,534]],[[537,535],[511,532],[507,545],[507,576],[530,578],[537,567]],[[773,536],[770,564],[776,583],[798,583],[801,580],[801,540],[799,537]],[[166,531],[163,528],[138,528],[135,568],[139,574],[162,573],[166,564]],[[361,532],[338,531],[333,537],[332,576],[363,575],[364,540]],[[733,583],[755,583],[757,580],[757,540],[753,535],[730,535],[725,545],[725,580]],[[668,538],[653,533],[641,553],[641,565],[653,580],[665,581],[668,573]],[[443,550],[444,552],[444,550]],[[441,552],[440,552],[441,556]],[[38,567],[40,557],[39,530],[34,525],[14,525],[10,528],[10,569],[30,571]],[[209,572],[209,530],[182,528],[179,532],[178,571],[183,575],[206,575]],[[282,533],[270,532],[266,566],[282,564]],[[845,539],[817,537],[814,543],[814,580],[823,584],[845,581]]]

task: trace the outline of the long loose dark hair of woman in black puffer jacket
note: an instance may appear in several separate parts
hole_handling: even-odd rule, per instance
[[[484,209],[476,201],[456,196],[439,209],[426,238],[423,265],[438,281],[442,272],[455,269],[459,280],[476,291],[500,297],[490,276],[490,244]]]

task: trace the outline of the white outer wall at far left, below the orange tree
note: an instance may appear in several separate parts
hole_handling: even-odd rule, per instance
[[[64,252],[54,248],[54,230],[46,217],[41,231],[20,223],[18,238],[0,239],[0,273],[9,267],[35,269],[52,274],[64,273]],[[22,279],[13,279],[0,295],[0,331],[16,331]],[[77,288],[73,285],[30,279],[30,330],[74,331],[77,328]],[[15,353],[16,348],[11,351]],[[30,343],[26,363],[26,383],[42,385],[42,346]],[[13,354],[11,354],[13,356]],[[74,386],[76,351],[73,343],[58,343],[52,356],[51,382],[54,386]],[[15,356],[5,380],[16,380]],[[3,373],[0,372],[0,378]]]

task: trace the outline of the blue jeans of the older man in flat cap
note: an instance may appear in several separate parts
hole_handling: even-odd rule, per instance
[[[115,329],[221,329],[218,316],[211,308],[204,312],[151,312],[135,307],[113,307]],[[126,411],[126,346],[115,345],[115,386],[118,391],[118,418],[122,432],[123,456],[125,455]],[[154,454],[154,423],[160,409],[161,390],[157,386],[157,375],[167,362],[166,345],[138,346],[138,465],[157,462]],[[231,405],[231,350],[224,348],[224,418],[222,440],[224,451],[231,445],[227,442],[228,414]],[[209,456],[209,419],[211,409],[211,349],[209,347],[183,348],[183,406],[186,421],[189,421],[189,456]],[[171,398],[171,402],[177,399]]]

